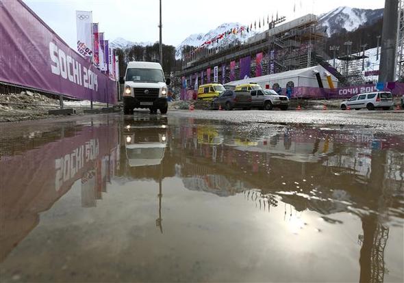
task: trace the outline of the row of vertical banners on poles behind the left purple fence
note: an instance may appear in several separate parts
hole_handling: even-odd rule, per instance
[[[92,12],[76,11],[77,51],[91,60],[101,72],[117,80],[118,56],[111,48],[109,40],[99,31],[99,23],[92,23]]]

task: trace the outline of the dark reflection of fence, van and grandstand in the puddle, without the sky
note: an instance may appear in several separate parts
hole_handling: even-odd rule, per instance
[[[53,133],[59,138],[1,159],[6,176],[1,226],[8,232],[1,234],[0,260],[77,180],[86,208],[97,206],[111,181],[154,180],[155,225],[163,233],[162,181],[177,177],[192,191],[240,194],[265,213],[282,203],[285,221],[307,210],[331,223],[335,220],[327,215],[354,213],[363,230],[358,236],[360,282],[383,282],[388,220],[404,218],[401,137],[299,125],[251,134],[249,129],[229,131],[225,124],[179,123],[162,116],[71,131],[70,137]]]

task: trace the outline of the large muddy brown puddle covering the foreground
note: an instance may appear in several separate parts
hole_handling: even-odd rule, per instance
[[[41,123],[0,138],[1,282],[404,280],[403,135]]]

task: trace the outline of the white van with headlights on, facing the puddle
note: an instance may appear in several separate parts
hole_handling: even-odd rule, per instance
[[[123,92],[123,112],[133,113],[134,108],[147,108],[151,113],[167,113],[167,85],[170,79],[164,79],[163,68],[155,62],[129,62],[125,77],[119,80],[125,83]]]

